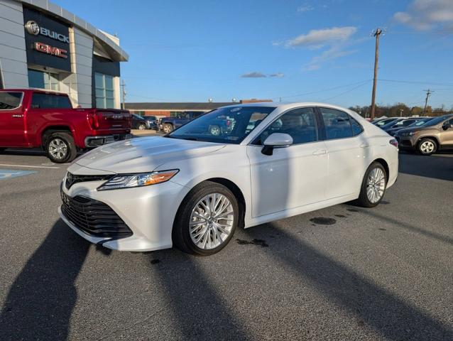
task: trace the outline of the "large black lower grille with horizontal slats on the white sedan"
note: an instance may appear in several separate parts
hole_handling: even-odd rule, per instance
[[[78,229],[92,237],[114,239],[130,237],[133,233],[109,205],[77,195],[70,197],[61,191],[63,215]]]

